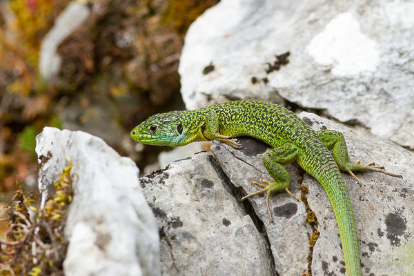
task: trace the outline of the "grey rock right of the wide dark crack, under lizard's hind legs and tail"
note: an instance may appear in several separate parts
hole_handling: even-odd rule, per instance
[[[414,162],[413,153],[375,135],[358,135],[339,124],[308,112],[302,117],[314,130],[333,129],[344,133],[351,161],[363,164],[375,161],[386,170],[403,175],[404,179],[377,172],[359,172],[362,188],[350,175],[343,173],[356,219],[363,273],[374,275],[411,275],[414,244]],[[268,150],[251,138],[239,139],[242,148],[235,150],[214,142],[213,153],[228,180],[244,190],[244,195],[258,190],[250,184],[261,179],[272,180],[262,165],[262,156]],[[316,214],[320,237],[313,249],[313,275],[340,275],[345,273],[339,230],[331,204],[316,179],[303,172],[297,164],[287,166],[292,177],[290,190],[299,197],[298,181],[308,187],[308,204]],[[303,179],[302,179],[303,177]],[[249,199],[254,213],[268,235],[275,268],[279,275],[308,273],[311,227],[306,222],[304,203],[281,193],[270,198],[274,224],[269,220],[264,197]],[[408,257],[411,256],[411,257]]]

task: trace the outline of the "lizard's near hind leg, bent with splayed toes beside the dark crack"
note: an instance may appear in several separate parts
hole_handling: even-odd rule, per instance
[[[275,182],[270,183],[266,180],[262,180],[264,184],[259,184],[254,181],[252,184],[262,188],[262,190],[246,195],[246,197],[243,197],[241,200],[243,201],[249,197],[266,193],[266,207],[269,213],[270,221],[273,221],[269,206],[269,197],[271,194],[286,191],[289,195],[299,201],[295,195],[290,193],[289,187],[292,180],[290,179],[288,170],[284,167],[297,159],[298,152],[299,148],[293,144],[284,144],[283,146],[273,148],[273,150],[267,152],[263,157],[263,164],[270,176],[275,179]]]

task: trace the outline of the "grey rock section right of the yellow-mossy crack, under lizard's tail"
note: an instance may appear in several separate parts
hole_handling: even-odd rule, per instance
[[[358,172],[357,177],[362,182],[359,188],[351,175],[342,173],[353,204],[363,273],[413,275],[414,154],[375,135],[359,135],[313,113],[302,112],[299,117],[314,130],[328,128],[342,132],[351,161],[361,160],[362,164],[375,161],[377,166],[385,166],[387,171],[404,177]],[[343,254],[328,197],[322,186],[307,174],[303,185],[309,188],[308,203],[316,213],[321,231],[313,251],[314,274],[341,271]]]

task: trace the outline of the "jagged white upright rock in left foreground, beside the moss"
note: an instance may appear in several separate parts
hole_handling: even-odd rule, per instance
[[[157,226],[135,163],[98,137],[57,128],[44,128],[36,152],[42,206],[66,157],[72,160],[65,275],[159,275]]]

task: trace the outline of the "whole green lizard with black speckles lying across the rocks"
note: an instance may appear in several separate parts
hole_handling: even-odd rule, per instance
[[[262,188],[242,200],[267,193],[269,196],[290,186],[290,175],[284,166],[297,163],[324,187],[335,213],[344,250],[346,274],[361,275],[357,231],[351,201],[339,170],[353,177],[357,170],[374,170],[393,177],[384,167],[374,164],[351,163],[341,132],[320,130],[315,132],[295,113],[275,103],[260,101],[231,101],[198,110],[172,111],[152,115],[131,131],[135,141],[150,145],[184,146],[193,141],[217,139],[238,148],[233,137],[250,136],[273,147],[263,158],[266,170],[275,181],[264,184],[253,182]],[[333,155],[329,150],[333,149]],[[338,169],[339,168],[339,169]],[[357,179],[357,177],[355,177]],[[359,180],[357,179],[359,182]],[[360,183],[360,182],[359,182]]]

